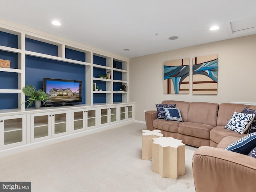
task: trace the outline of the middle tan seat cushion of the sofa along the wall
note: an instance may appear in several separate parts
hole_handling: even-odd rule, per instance
[[[211,125],[183,122],[179,125],[178,132],[180,134],[189,135],[193,137],[210,139],[210,130],[213,128]]]

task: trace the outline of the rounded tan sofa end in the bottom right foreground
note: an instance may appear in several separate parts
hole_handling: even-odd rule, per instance
[[[256,158],[209,146],[193,156],[196,192],[241,192],[256,188]]]

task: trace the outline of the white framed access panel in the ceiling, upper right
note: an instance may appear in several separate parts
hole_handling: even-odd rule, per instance
[[[256,34],[256,15],[228,21],[226,26],[230,35]]]

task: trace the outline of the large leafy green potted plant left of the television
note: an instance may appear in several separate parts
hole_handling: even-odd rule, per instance
[[[45,105],[45,101],[49,99],[49,95],[46,92],[44,92],[42,89],[36,90],[36,88],[32,85],[26,85],[24,88],[22,88],[22,92],[28,96],[28,99],[25,101],[28,102],[27,107],[30,107],[33,102],[35,102],[35,108],[38,109],[41,106],[41,102],[43,102]]]

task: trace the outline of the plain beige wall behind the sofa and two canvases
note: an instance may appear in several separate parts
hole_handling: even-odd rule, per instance
[[[192,58],[218,54],[218,94],[192,95]],[[190,58],[190,93],[164,94],[163,63]],[[136,102],[135,119],[156,110],[162,100],[256,103],[256,35],[182,48],[130,59],[129,100]]]

